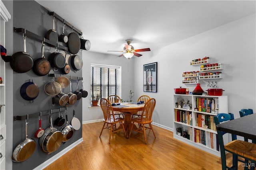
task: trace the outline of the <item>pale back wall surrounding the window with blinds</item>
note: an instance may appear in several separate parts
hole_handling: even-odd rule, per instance
[[[93,45],[93,42],[91,42]],[[83,88],[88,92],[88,96],[82,99],[83,105],[83,123],[90,123],[91,121],[103,119],[103,114],[100,107],[89,108],[90,106],[90,64],[104,64],[122,67],[122,96],[123,100],[128,100],[130,90],[134,91],[132,84],[133,75],[133,58],[128,60],[124,57],[116,58],[117,55],[106,55],[102,53],[92,53],[83,50]]]

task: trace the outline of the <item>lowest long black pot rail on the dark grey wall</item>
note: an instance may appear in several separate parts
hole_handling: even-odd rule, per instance
[[[65,110],[66,110],[66,106],[60,107],[58,109],[52,109],[52,114],[53,113],[58,113],[59,111],[63,111],[63,110],[61,110],[61,108],[65,108]],[[43,112],[44,112],[44,114],[43,114]],[[31,113],[31,114],[28,114],[28,115],[24,115],[24,116],[14,116],[13,120],[14,121],[15,120],[26,120],[26,119],[31,119],[31,118],[35,118],[35,117],[38,118],[38,116],[41,117],[41,116],[45,116],[45,115],[49,115],[49,114],[50,114],[50,110],[39,111],[39,112],[36,112],[36,113]]]

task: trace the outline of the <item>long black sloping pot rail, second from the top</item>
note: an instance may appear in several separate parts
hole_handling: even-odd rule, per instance
[[[14,28],[14,32],[17,32],[17,33],[24,33],[24,36],[28,36],[28,37],[31,37],[31,38],[34,38],[34,39],[37,39],[39,41],[42,41],[43,43],[47,43],[47,44],[50,44],[50,45],[53,45],[55,47],[58,47],[58,49],[62,49],[64,51],[67,51],[68,48],[67,47],[64,47],[63,45],[60,45],[58,43],[53,43],[52,41],[42,37],[42,36],[39,36],[35,33],[32,33],[28,30],[26,30],[25,28],[16,28],[16,27],[13,27]]]

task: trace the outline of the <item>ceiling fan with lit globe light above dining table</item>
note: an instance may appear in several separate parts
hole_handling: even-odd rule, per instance
[[[117,57],[124,56],[126,59],[130,59],[130,58],[132,58],[133,55],[135,55],[137,57],[142,56],[141,54],[138,54],[137,52],[150,51],[150,48],[134,50],[134,47],[132,45],[130,45],[130,43],[132,43],[132,40],[127,39],[125,41],[127,44],[124,45],[124,51],[116,51],[116,52],[124,52],[124,53],[121,55],[118,55]]]

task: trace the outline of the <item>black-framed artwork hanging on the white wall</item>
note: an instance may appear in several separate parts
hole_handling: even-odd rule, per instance
[[[143,65],[143,92],[157,92],[157,62]]]

